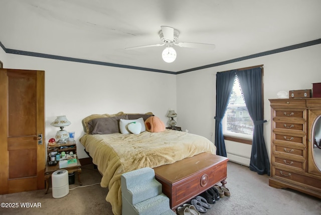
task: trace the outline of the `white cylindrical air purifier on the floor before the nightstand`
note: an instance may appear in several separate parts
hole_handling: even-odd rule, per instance
[[[61,198],[69,193],[68,171],[60,169],[52,173],[52,197]]]

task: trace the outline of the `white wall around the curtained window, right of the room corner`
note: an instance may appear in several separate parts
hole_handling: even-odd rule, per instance
[[[280,90],[311,89],[312,83],[321,82],[319,61],[321,45],[314,45],[262,56],[236,63],[207,68],[177,75],[178,125],[190,133],[202,135],[214,143],[216,73],[231,69],[264,64],[264,139],[270,156],[269,98],[276,98]],[[214,63],[214,62],[213,62]],[[228,142],[228,141],[227,141]],[[227,151],[239,146],[227,145]],[[246,147],[249,148],[249,147]],[[244,152],[249,156],[250,152]]]

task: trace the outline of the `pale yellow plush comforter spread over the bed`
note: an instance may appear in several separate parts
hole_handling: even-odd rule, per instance
[[[120,175],[142,167],[171,164],[202,152],[216,153],[214,144],[194,134],[166,129],[160,133],[89,135],[80,142],[103,174],[100,185],[108,187],[106,200],[115,215],[121,214]]]

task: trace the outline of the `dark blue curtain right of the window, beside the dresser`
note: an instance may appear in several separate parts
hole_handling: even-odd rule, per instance
[[[250,170],[260,175],[270,175],[270,162],[263,138],[263,123],[266,120],[263,120],[262,71],[260,67],[241,70],[237,76],[254,124]]]

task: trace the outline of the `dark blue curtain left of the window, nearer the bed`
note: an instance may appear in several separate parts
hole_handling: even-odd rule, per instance
[[[216,73],[216,114],[215,114],[215,146],[216,154],[226,157],[223,137],[222,119],[231,96],[235,71]]]

